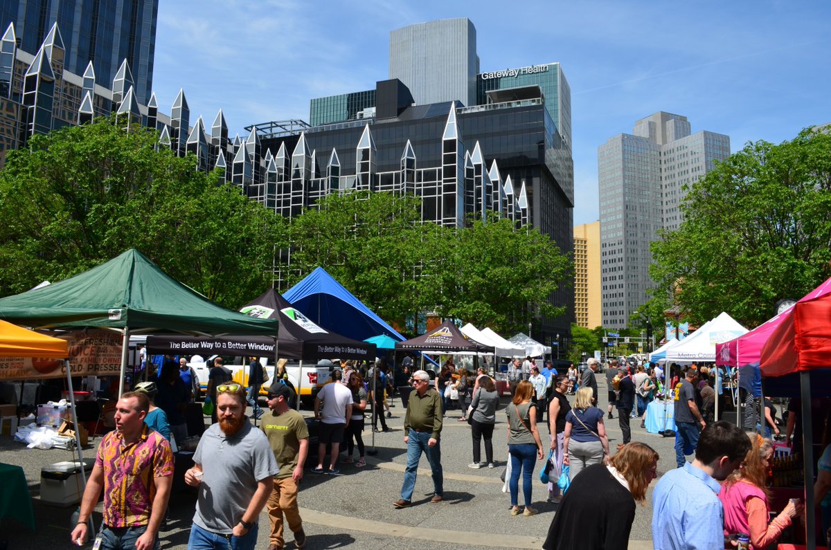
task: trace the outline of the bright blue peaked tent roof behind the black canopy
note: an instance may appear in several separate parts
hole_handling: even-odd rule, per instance
[[[406,340],[323,268],[315,268],[283,292],[283,297],[319,326],[343,336],[365,340],[386,334],[397,341]]]

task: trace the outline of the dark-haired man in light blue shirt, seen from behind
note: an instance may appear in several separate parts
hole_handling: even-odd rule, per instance
[[[707,425],[696,459],[664,474],[652,492],[655,550],[725,548],[719,482],[739,467],[749,450],[750,439],[737,426],[724,421]]]

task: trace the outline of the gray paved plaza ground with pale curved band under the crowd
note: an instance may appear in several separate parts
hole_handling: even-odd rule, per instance
[[[600,385],[601,406],[605,412],[607,401],[605,376],[597,376]],[[505,398],[507,400],[507,397]],[[395,509],[392,503],[400,498],[401,481],[406,464],[406,446],[403,441],[404,410],[396,398],[387,420],[393,431],[375,434],[377,454],[367,454],[364,468],[340,464],[341,474],[329,476],[312,474],[315,464],[307,462],[298,502],[307,533],[306,548],[414,548],[446,550],[451,548],[541,548],[556,508],[545,502],[547,491],[539,482],[538,461],[534,471],[534,508],[539,514],[532,517],[509,515],[509,495],[502,493],[499,475],[507,458],[507,433],[504,407],[497,412],[494,430],[495,469],[470,469],[472,461],[470,426],[458,422],[459,411],[450,411],[445,419],[441,440],[441,462],[445,471],[445,500],[431,504],[432,482],[429,470],[419,472],[416,493],[411,508]],[[309,415],[308,411],[304,414]],[[606,420],[612,453],[621,442],[621,432],[615,420]],[[367,426],[370,426],[367,420]],[[658,473],[675,467],[675,451],[671,438],[647,434],[640,420],[632,420],[632,440],[652,445],[661,455]],[[547,430],[541,430],[543,444],[548,440]],[[371,447],[372,432],[364,431],[367,450]],[[94,444],[98,444],[96,438]],[[84,456],[94,455],[94,449],[84,449]],[[484,450],[483,450],[484,452]],[[30,533],[12,519],[2,520],[2,535],[9,541],[8,548],[77,548],[69,540],[71,513],[76,507],[56,508],[41,503],[39,496],[41,469],[47,464],[70,460],[71,453],[62,449],[26,449],[7,437],[0,438],[0,462],[18,464],[24,469],[35,508],[37,533]],[[484,454],[483,454],[484,459]],[[421,465],[426,468],[426,459]],[[654,487],[655,482],[652,483]],[[179,484],[176,485],[179,487]],[[652,488],[651,488],[652,489]],[[651,497],[652,490],[649,495]],[[520,483],[520,500],[521,500]],[[603,498],[597,495],[598,500]],[[190,489],[176,490],[170,499],[170,521],[162,533],[161,548],[186,548],[191,519],[194,515],[195,493]],[[99,513],[93,515],[96,526]],[[587,518],[591,522],[591,518]],[[638,506],[629,548],[652,548],[652,506]],[[258,548],[268,547],[268,518],[265,511],[259,521]],[[292,535],[287,533],[286,548],[296,548]]]

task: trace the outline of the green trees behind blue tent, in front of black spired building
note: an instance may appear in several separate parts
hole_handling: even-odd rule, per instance
[[[324,266],[381,317],[404,325],[435,312],[514,333],[562,314],[548,296],[571,263],[550,238],[507,219],[465,228],[421,223],[420,200],[391,193],[332,194],[293,219],[288,282]]]

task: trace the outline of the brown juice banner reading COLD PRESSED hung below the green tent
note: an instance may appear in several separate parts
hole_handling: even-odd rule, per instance
[[[111,376],[121,370],[121,335],[115,331],[71,331],[53,334],[69,343],[71,376]],[[0,357],[0,380],[36,381],[66,378],[62,359]]]

